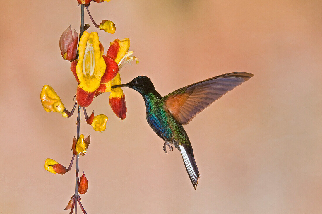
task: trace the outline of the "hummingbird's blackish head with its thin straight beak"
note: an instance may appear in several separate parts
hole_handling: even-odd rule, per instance
[[[154,88],[154,85],[153,85],[151,79],[149,79],[146,76],[136,77],[131,82],[126,83],[126,84],[112,86],[112,88],[117,88],[117,87],[133,88],[134,90],[138,91],[141,94],[148,94],[148,93],[154,92],[156,90]]]

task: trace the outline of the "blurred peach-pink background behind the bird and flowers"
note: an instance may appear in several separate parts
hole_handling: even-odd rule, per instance
[[[74,166],[51,174],[44,161],[68,166],[76,115],[47,113],[39,97],[49,84],[68,109],[74,104],[77,84],[58,42],[70,24],[79,31],[81,7],[75,0],[1,5],[0,212],[68,213]],[[95,98],[88,112],[109,121],[98,133],[81,120],[81,133],[91,135],[80,158],[88,213],[321,211],[321,1],[111,0],[89,9],[97,23],[116,24],[115,34],[99,31],[106,50],[115,38],[131,39],[140,63],[121,70],[123,83],[146,75],[164,96],[223,73],[255,76],[185,126],[197,190],[180,153],[164,153],[139,93],[124,89],[124,121],[109,93]],[[92,25],[86,13],[85,23]]]

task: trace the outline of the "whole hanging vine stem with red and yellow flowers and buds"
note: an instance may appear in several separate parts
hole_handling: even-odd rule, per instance
[[[86,213],[81,204],[79,194],[85,194],[88,190],[88,180],[83,172],[79,178],[79,155],[84,156],[90,145],[90,135],[80,134],[81,107],[83,107],[86,123],[91,125],[95,131],[103,132],[106,129],[108,117],[106,115],[94,115],[94,111],[90,116],[87,115],[86,107],[88,107],[93,99],[104,92],[110,92],[109,104],[113,112],[122,120],[126,117],[127,107],[125,95],[121,88],[111,88],[113,85],[121,84],[119,71],[128,62],[135,60],[138,63],[137,57],[133,56],[133,51],[128,51],[130,40],[115,39],[110,42],[110,46],[104,55],[103,44],[99,41],[98,32],[87,32],[90,25],[84,25],[84,10],[86,8],[89,17],[94,27],[107,33],[115,33],[115,24],[112,21],[103,20],[99,25],[95,23],[88,7],[92,0],[77,0],[81,4],[81,27],[79,35],[74,30],[72,33],[71,25],[62,33],[59,40],[59,47],[62,58],[71,62],[71,72],[74,75],[77,88],[76,102],[71,111],[68,111],[61,98],[55,90],[49,85],[44,85],[40,94],[40,99],[43,108],[47,112],[59,112],[63,117],[71,117],[78,105],[78,114],[76,120],[77,135],[72,142],[72,158],[68,168],[59,164],[53,159],[45,160],[45,170],[54,174],[65,174],[71,170],[74,158],[76,156],[75,167],[75,192],[71,196],[71,200],[64,210],[71,209],[70,213],[77,213],[77,203],[83,213]],[[102,3],[109,0],[93,0],[96,3]],[[79,44],[77,45],[77,42]]]

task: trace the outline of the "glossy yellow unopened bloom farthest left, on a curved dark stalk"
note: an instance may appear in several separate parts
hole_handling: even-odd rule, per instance
[[[60,112],[62,113],[63,117],[67,117],[67,114],[63,112],[65,106],[62,103],[61,98],[59,98],[54,89],[52,89],[52,87],[50,87],[49,85],[43,86],[43,89],[40,93],[40,99],[45,111]]]

